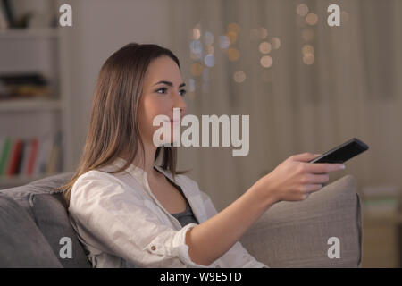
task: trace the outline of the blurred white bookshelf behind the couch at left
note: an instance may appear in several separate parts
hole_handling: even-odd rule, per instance
[[[50,88],[49,95],[42,97],[0,99],[0,189],[21,186],[65,172],[67,168],[65,158],[70,156],[66,153],[71,149],[67,139],[71,133],[63,37],[60,28],[0,31],[0,76],[40,73]],[[7,138],[11,142],[20,139],[25,144],[20,148],[20,156],[14,158],[15,150],[13,146],[9,148],[2,168]],[[38,139],[36,156],[31,154],[35,153],[33,139]],[[14,168],[11,167],[12,160],[16,164]],[[18,160],[20,162],[16,163]],[[11,169],[14,172],[10,172]]]

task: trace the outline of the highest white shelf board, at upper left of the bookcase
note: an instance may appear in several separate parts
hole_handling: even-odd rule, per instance
[[[0,29],[2,39],[29,39],[29,38],[58,38],[59,31],[55,28],[43,29]]]

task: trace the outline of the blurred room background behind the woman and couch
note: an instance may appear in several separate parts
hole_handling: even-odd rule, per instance
[[[73,172],[102,64],[130,42],[155,43],[180,59],[188,114],[250,116],[247,156],[180,148],[179,169],[218,210],[289,156],[356,137],[369,151],[331,181],[356,178],[363,266],[400,267],[402,1],[0,3],[0,189]],[[62,4],[71,27],[59,25]],[[327,23],[330,4],[339,27]]]

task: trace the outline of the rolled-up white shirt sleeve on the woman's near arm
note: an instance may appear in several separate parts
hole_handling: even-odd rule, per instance
[[[196,223],[176,231],[112,175],[92,172],[73,185],[69,211],[80,225],[80,237],[91,246],[140,267],[200,267],[188,255],[186,233]]]

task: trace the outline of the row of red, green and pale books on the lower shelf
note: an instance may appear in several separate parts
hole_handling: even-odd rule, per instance
[[[61,132],[35,138],[0,139],[0,180],[61,172]]]

